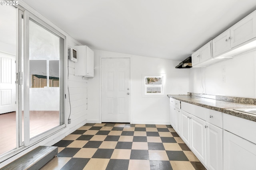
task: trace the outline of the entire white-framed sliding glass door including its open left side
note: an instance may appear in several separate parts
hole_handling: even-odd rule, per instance
[[[0,6],[0,161],[64,128],[65,36]]]

